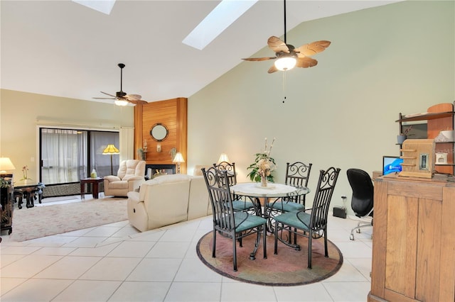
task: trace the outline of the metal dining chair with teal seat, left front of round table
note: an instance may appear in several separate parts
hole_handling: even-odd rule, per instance
[[[267,258],[267,220],[247,213],[234,211],[232,206],[232,194],[229,189],[228,174],[225,170],[211,167],[202,169],[205,184],[207,185],[210,203],[213,212],[213,245],[212,257],[216,257],[216,235],[224,235],[232,239],[233,267],[237,271],[237,240],[242,246],[242,238],[256,234],[255,248],[250,254],[250,259],[255,259],[257,248],[263,236],[264,258]]]

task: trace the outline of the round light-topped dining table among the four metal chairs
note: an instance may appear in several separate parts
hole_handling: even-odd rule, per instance
[[[267,225],[271,225],[269,211],[270,205],[279,200],[289,200],[297,196],[309,194],[310,189],[306,186],[291,186],[288,184],[268,183],[261,186],[260,182],[245,182],[230,186],[230,191],[234,196],[245,196],[255,205],[256,215],[267,219]],[[263,205],[261,203],[263,201]],[[264,206],[264,211],[262,211]]]

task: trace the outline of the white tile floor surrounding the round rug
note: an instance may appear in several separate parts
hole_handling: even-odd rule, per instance
[[[367,301],[372,230],[350,241],[355,225],[330,216],[328,239],[344,259],[337,274],[288,287],[242,283],[205,267],[196,244],[211,230],[210,216],[145,233],[122,221],[25,242],[2,234],[0,300]]]

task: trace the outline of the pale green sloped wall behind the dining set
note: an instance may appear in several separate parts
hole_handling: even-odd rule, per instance
[[[297,26],[287,43],[331,46],[316,67],[287,72],[285,91],[282,72],[267,74],[272,61],[242,62],[188,99],[188,173],[225,152],[246,181],[264,138],[277,138],[277,181],[287,161],[313,163],[310,188],[319,169],[340,167],[332,204],[343,194],[350,202],[348,168],[373,172],[382,155],[399,154],[399,112],[455,100],[454,11],[454,1],[405,1]],[[264,47],[252,57],[271,55]]]

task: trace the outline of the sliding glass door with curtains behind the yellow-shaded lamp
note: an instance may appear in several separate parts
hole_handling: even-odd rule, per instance
[[[97,130],[40,128],[41,181],[44,184],[78,182],[95,169],[99,177],[111,174],[111,156],[102,151],[119,145],[119,133]],[[119,155],[112,156],[117,174]]]

